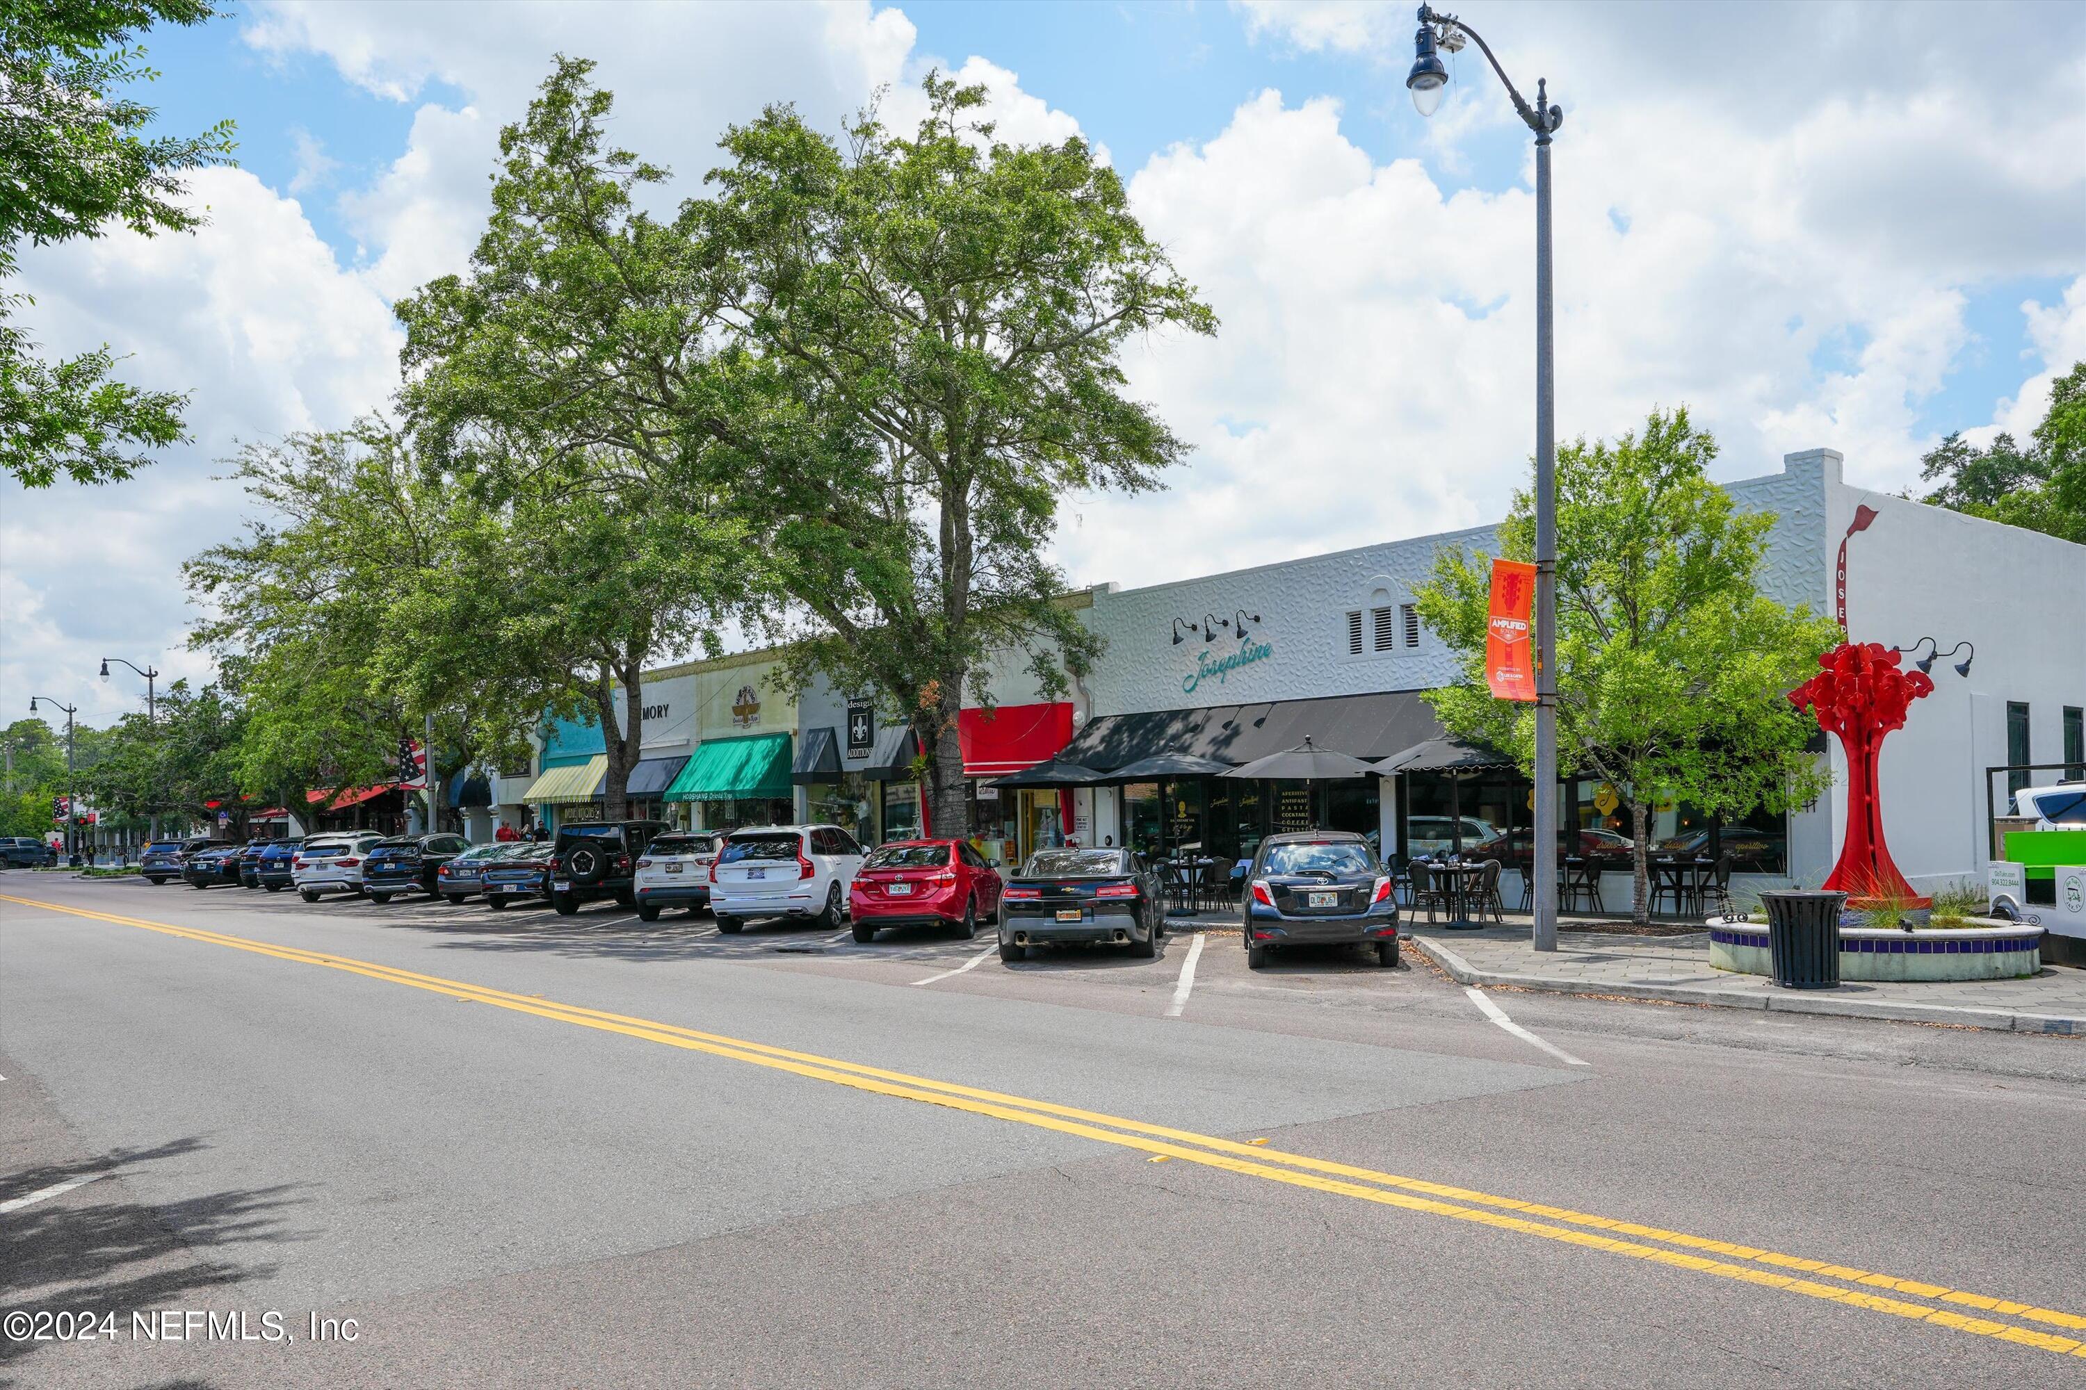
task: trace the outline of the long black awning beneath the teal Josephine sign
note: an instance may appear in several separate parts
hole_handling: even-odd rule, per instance
[[[1318,748],[1356,759],[1387,759],[1412,744],[1439,738],[1441,725],[1418,690],[1385,690],[1318,700],[1101,715],[1089,719],[1058,756],[1099,771],[1114,771],[1162,752],[1237,765],[1297,748],[1306,736]]]

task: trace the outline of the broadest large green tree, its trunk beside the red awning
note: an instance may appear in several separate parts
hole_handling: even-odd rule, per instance
[[[711,461],[803,615],[793,661],[901,706],[935,827],[968,834],[957,713],[987,656],[1062,690],[1097,650],[1056,602],[1060,500],[1187,452],[1122,348],[1216,317],[1083,140],[1010,146],[983,88],[924,92],[912,135],[866,113],[834,142],[789,106],[734,127],[680,227],[728,333]]]

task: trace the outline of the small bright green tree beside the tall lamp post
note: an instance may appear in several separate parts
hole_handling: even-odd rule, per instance
[[[1654,411],[1642,436],[1558,450],[1558,765],[1600,775],[1629,804],[1640,923],[1650,921],[1660,796],[1736,815],[1781,811],[1829,784],[1788,692],[1840,629],[1758,592],[1775,519],[1738,511],[1708,481],[1715,456],[1685,408]],[[1514,496],[1500,550],[1533,559],[1529,494]],[[1527,771],[1535,709],[1485,688],[1487,594],[1483,556],[1454,546],[1435,559],[1418,611],[1456,652],[1462,681],[1427,700],[1450,734],[1512,750]]]

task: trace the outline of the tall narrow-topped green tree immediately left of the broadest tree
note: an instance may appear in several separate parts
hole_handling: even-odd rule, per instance
[[[501,131],[492,217],[465,275],[401,300],[403,404],[505,531],[448,594],[496,634],[488,671],[563,694],[603,729],[607,815],[628,809],[647,665],[715,650],[759,552],[713,481],[711,306],[686,238],[636,202],[665,171],[607,144],[611,96],[559,58]],[[459,613],[457,621],[463,621]]]

